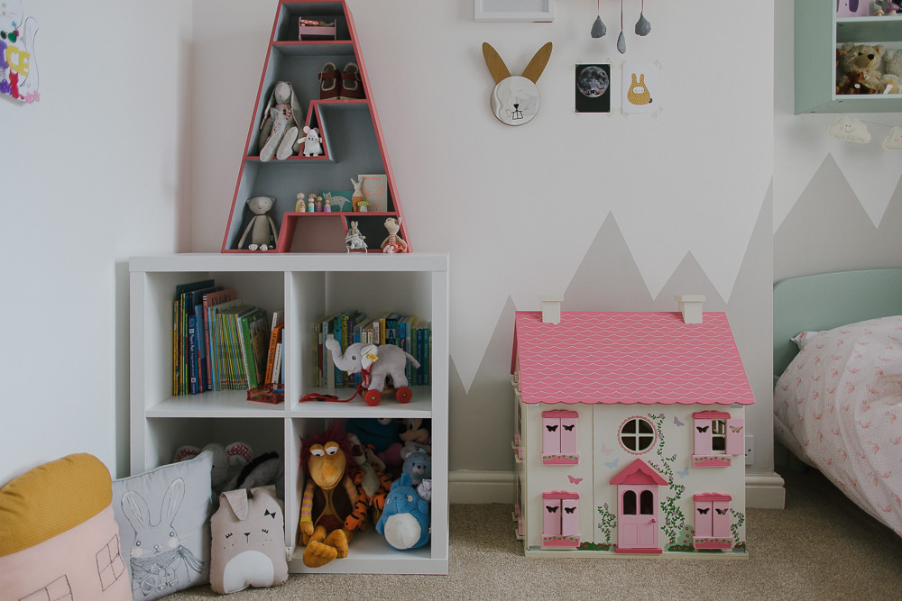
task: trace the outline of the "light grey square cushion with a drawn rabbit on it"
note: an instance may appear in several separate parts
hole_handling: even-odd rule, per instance
[[[135,601],[209,581],[213,453],[113,482],[113,509]]]

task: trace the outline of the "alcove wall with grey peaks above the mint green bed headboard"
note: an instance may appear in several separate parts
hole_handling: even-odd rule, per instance
[[[902,153],[882,147],[902,114],[851,114],[867,144],[827,134],[839,114],[794,114],[793,3],[775,10],[774,279],[902,267]]]

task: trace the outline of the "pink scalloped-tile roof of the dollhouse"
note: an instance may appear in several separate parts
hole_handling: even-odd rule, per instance
[[[518,311],[511,373],[523,403],[751,405],[726,314]]]

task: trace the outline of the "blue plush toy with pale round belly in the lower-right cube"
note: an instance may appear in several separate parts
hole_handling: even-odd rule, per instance
[[[376,532],[384,534],[385,540],[401,551],[429,542],[429,504],[410,486],[408,474],[401,474],[391,485]]]

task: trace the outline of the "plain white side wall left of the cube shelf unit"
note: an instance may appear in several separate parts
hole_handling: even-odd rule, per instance
[[[125,262],[189,241],[191,15],[179,0],[23,9],[39,24],[41,99],[0,96],[0,484],[73,452],[115,476],[128,468]]]

